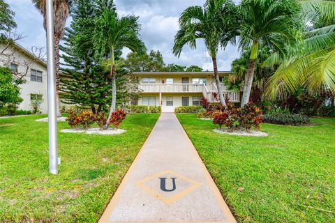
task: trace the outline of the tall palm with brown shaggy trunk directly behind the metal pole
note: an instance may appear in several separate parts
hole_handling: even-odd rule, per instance
[[[46,0],[32,0],[37,10],[44,17],[44,29],[46,26]],[[56,95],[57,95],[57,116],[61,116],[59,109],[59,41],[64,37],[64,28],[66,19],[69,15],[70,0],[57,0],[53,1],[54,7],[54,55],[56,63]]]

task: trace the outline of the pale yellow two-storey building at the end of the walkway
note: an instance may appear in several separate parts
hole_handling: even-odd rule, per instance
[[[222,77],[229,72],[218,72]],[[141,98],[137,105],[162,106],[162,112],[174,112],[178,106],[200,105],[202,97],[216,101],[213,72],[134,72],[140,80]],[[223,84],[223,96],[240,101],[240,92],[228,91]]]

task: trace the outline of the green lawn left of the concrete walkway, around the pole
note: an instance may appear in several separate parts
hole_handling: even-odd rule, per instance
[[[35,121],[45,116],[0,118],[0,222],[96,222],[158,116],[131,114],[114,136],[59,132],[57,176],[47,123]]]

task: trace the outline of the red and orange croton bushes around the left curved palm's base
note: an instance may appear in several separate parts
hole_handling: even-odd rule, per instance
[[[110,124],[113,125],[114,128],[118,128],[124,118],[126,118],[126,112],[124,112],[124,110],[112,112]],[[97,123],[101,130],[103,130],[105,129],[107,118],[105,116],[105,112],[98,112],[94,114],[90,111],[77,113],[70,110],[66,121],[68,121],[68,125],[70,125],[71,128],[82,127],[84,129],[89,129],[91,125]]]

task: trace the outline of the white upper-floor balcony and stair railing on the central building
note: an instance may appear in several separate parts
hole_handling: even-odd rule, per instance
[[[217,102],[213,93],[218,92],[216,84],[140,84],[144,93],[202,93],[210,102]],[[230,98],[231,102],[239,102],[240,92],[228,91],[222,85],[223,97]]]

